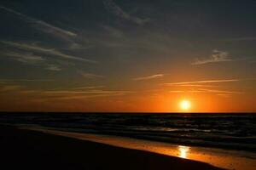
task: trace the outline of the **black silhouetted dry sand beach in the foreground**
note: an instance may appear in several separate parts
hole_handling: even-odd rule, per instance
[[[0,169],[220,169],[207,163],[0,126]]]

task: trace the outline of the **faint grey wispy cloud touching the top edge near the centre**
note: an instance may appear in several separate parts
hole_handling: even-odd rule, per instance
[[[124,20],[130,20],[131,22],[136,23],[137,25],[142,26],[147,23],[150,19],[141,19],[136,16],[131,16],[131,14],[126,13],[122,8],[120,8],[116,3],[113,3],[113,0],[103,0],[105,8],[108,9],[109,12],[115,14],[119,18]]]

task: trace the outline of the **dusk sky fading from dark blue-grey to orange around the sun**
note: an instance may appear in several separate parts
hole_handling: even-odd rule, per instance
[[[256,1],[2,0],[0,111],[256,111]]]

